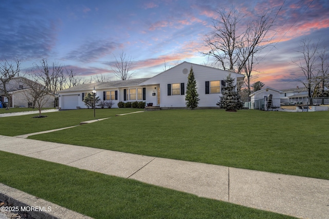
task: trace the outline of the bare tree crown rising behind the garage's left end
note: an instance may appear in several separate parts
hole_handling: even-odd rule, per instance
[[[53,62],[49,66],[47,59],[43,58],[40,65],[34,65],[37,70],[36,75],[38,75],[39,80],[46,86],[50,93],[57,93],[57,91],[64,88],[66,77],[61,64]]]

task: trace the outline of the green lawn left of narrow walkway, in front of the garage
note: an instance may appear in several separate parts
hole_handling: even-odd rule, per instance
[[[16,108],[15,108],[16,109]],[[96,109],[96,118],[113,117],[120,113],[140,111],[141,109]],[[7,110],[8,111],[8,110]],[[80,122],[94,120],[93,109],[66,110],[43,113],[45,118],[32,118],[35,115],[21,115],[0,118],[0,123],[6,124],[0,129],[0,135],[15,136],[45,130],[59,129],[79,125]]]

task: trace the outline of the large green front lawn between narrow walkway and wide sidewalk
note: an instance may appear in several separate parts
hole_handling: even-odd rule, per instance
[[[163,110],[29,138],[329,180],[328,115]]]

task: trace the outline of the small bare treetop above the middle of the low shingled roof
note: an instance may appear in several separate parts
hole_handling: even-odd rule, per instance
[[[119,54],[119,60],[115,57],[114,66],[111,69],[114,71],[114,74],[119,77],[122,81],[129,79],[132,74],[135,72],[131,72],[134,68],[134,59],[122,51]]]

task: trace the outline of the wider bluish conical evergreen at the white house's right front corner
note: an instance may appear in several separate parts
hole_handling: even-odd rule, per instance
[[[240,100],[240,95],[236,91],[236,85],[234,85],[234,79],[231,77],[231,73],[227,75],[225,80],[226,86],[222,89],[222,96],[217,106],[220,106],[226,111],[234,111],[242,109],[243,103]]]

